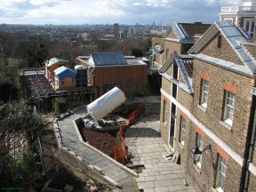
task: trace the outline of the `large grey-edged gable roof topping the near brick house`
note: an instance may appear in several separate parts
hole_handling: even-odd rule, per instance
[[[252,58],[252,55],[247,52],[245,47],[242,45],[243,43],[252,43],[252,38],[248,36],[244,30],[241,28],[237,28],[233,24],[229,23],[226,20],[222,20],[220,22],[215,22],[211,28],[207,30],[207,32],[202,36],[196,44],[188,51],[189,54],[192,55],[199,55],[200,51],[204,48],[204,45],[207,44],[213,36],[215,36],[217,33],[221,33],[222,36],[225,37],[225,39],[228,41],[228,44],[233,48],[233,50],[236,52],[237,56],[240,58],[240,60],[243,61],[244,66],[249,68],[251,70],[251,73],[248,74],[252,76],[254,73],[256,73],[256,61]],[[205,57],[206,58],[206,57]],[[208,59],[210,57],[207,57]],[[215,58],[212,58],[212,62],[216,60]],[[224,61],[224,60],[223,60]],[[228,62],[228,60],[227,60]],[[241,68],[238,68],[238,65],[236,67],[233,66],[232,69],[236,70],[238,69],[241,72]],[[245,68],[243,73],[248,73],[248,70]]]

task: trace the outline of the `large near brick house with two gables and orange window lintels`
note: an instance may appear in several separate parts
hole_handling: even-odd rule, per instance
[[[196,191],[256,188],[255,50],[250,36],[220,21],[159,70],[161,135]]]

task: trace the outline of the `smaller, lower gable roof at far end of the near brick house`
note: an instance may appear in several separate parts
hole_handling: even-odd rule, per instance
[[[165,73],[165,71],[172,66],[173,62],[176,62],[176,64],[178,65],[180,73],[183,76],[186,84],[177,82],[175,79],[172,78],[172,76]],[[181,89],[188,92],[189,94],[192,94],[194,92],[192,87],[193,57],[189,55],[178,55],[177,52],[172,52],[172,55],[169,57],[168,60],[166,60],[162,68],[159,69],[158,73],[161,76],[164,76],[165,78],[177,84]]]

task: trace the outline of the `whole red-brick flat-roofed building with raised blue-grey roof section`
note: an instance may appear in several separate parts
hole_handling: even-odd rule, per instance
[[[100,95],[115,86],[125,95],[146,92],[148,65],[141,59],[124,57],[122,52],[95,52],[89,57],[79,56],[76,62],[88,68],[88,85],[99,87]]]

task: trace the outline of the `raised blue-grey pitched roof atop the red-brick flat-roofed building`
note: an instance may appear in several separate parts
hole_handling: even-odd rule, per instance
[[[89,59],[94,66],[127,65],[122,52],[94,52]]]

